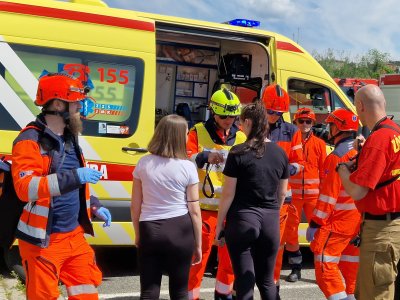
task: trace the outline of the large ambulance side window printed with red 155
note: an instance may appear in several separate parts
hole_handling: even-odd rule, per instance
[[[33,101],[37,78],[43,70],[67,72],[87,81],[87,85],[92,87],[85,104],[84,135],[124,138],[135,132],[143,87],[144,63],[141,59],[16,44],[10,46],[16,54],[15,65],[27,69],[15,72],[3,67],[1,72],[0,64],[0,76],[11,87],[18,105],[26,106],[33,116],[40,113]],[[2,116],[6,115],[4,119],[14,119],[8,125],[1,121],[1,129],[20,129],[18,117],[11,116],[1,105],[0,112]],[[16,124],[20,125],[19,128],[15,128]]]

